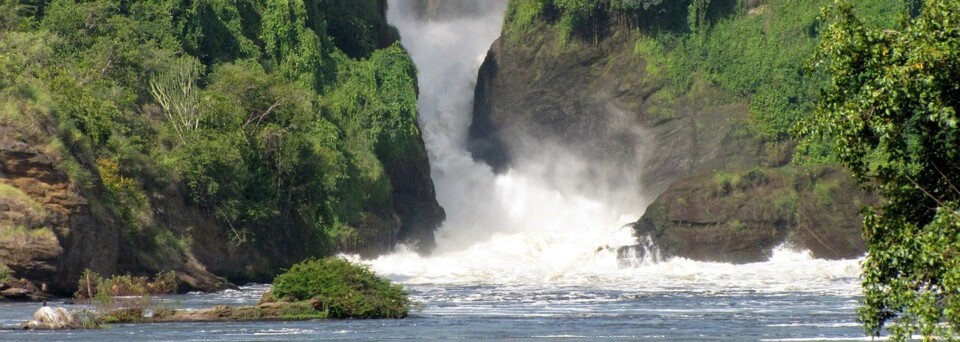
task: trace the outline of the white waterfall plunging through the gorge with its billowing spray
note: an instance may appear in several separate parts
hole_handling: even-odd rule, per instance
[[[431,256],[400,248],[370,262],[380,272],[438,282],[576,282],[620,269],[618,251],[637,244],[626,224],[638,213],[612,208],[640,205],[570,190],[599,187],[589,179],[558,184],[557,175],[574,175],[587,162],[552,150],[544,153],[554,156],[549,161],[520,160],[497,175],[467,151],[477,72],[500,35],[506,3],[445,1],[431,17],[416,1],[389,2],[388,19],[418,68],[420,124],[447,220]]]

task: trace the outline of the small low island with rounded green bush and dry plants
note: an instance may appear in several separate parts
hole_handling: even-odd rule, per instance
[[[68,312],[43,306],[23,329],[81,329],[114,323],[293,321],[312,319],[400,319],[410,300],[400,285],[367,267],[335,257],[308,259],[274,279],[273,287],[253,306],[218,305],[207,309],[170,309],[150,296],[172,292],[175,278],[160,274],[104,279],[87,272],[76,300],[94,311]]]

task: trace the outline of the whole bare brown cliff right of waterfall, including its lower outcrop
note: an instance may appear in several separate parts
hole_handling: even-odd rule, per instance
[[[546,5],[521,22],[524,5],[511,3],[480,69],[470,131],[476,159],[503,170],[560,144],[614,170],[621,184],[638,179],[635,191],[653,204],[637,235],[652,235],[668,256],[765,260],[785,241],[820,257],[863,253],[859,208],[870,197],[835,168],[790,166],[795,143],[758,132],[751,95],[702,75],[668,75],[662,54],[641,44],[653,31],[615,13],[592,14],[602,23],[590,34],[565,35],[562,8]],[[756,5],[709,15],[755,16]],[[675,10],[661,15],[687,18]],[[691,81],[677,87],[677,79]],[[762,180],[750,183],[753,176]],[[730,189],[718,192],[717,179]]]

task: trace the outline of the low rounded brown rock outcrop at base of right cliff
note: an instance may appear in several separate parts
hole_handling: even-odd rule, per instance
[[[863,255],[860,208],[876,199],[835,167],[751,169],[684,178],[634,225],[663,257],[757,262],[787,242],[815,257]]]

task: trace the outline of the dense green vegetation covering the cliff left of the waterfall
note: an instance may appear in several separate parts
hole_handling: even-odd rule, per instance
[[[394,215],[385,170],[424,153],[384,6],[0,0],[0,127],[60,157],[135,244],[184,196],[235,243],[329,252]]]

